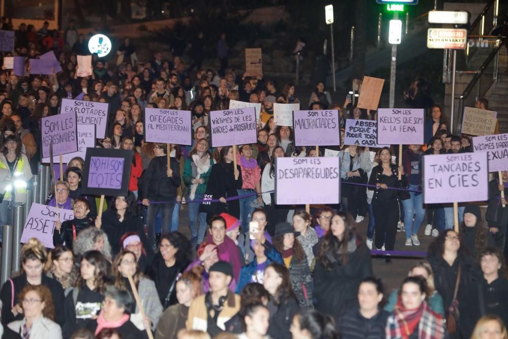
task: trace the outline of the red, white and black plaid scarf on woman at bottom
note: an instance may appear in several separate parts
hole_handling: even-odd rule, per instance
[[[430,310],[425,301],[417,310],[406,310],[399,298],[393,314],[388,317],[386,339],[407,339],[415,330],[418,330],[419,339],[442,339],[443,318]]]

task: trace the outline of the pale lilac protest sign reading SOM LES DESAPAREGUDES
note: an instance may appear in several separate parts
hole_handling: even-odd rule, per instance
[[[276,158],[277,205],[338,204],[340,158]]]

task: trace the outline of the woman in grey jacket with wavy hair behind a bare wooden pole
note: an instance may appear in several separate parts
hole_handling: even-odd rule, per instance
[[[113,278],[115,279],[115,287],[120,290],[128,291],[131,294],[132,288],[129,283],[129,276],[132,276],[138,290],[139,299],[141,300],[145,314],[151,324],[151,330],[155,330],[159,318],[161,318],[162,315],[161,301],[159,301],[157,289],[153,281],[140,272],[136,255],[130,251],[121,252],[113,261],[112,270]],[[134,325],[140,330],[144,330],[144,319],[139,311],[139,306],[133,303],[131,309],[128,311],[131,314],[131,321]]]

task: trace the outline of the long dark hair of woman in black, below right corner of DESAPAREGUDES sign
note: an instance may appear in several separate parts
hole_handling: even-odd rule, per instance
[[[344,235],[339,240],[332,232],[326,232],[317,251],[317,261],[320,261],[326,270],[331,270],[333,266],[332,258],[340,261],[342,265],[347,263],[347,242],[356,235],[355,220],[349,212],[338,212],[330,220],[330,224],[338,215],[344,221]],[[330,226],[331,227],[331,226]]]

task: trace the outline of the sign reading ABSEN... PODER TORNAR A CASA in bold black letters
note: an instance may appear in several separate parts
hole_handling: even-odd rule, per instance
[[[344,145],[385,147],[377,144],[377,121],[347,119]]]

